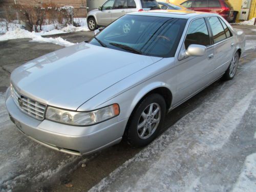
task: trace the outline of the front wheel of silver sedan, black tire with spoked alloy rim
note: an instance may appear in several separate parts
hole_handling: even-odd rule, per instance
[[[151,106],[152,113],[150,113]],[[151,143],[161,130],[165,112],[166,103],[161,95],[152,94],[143,99],[133,111],[126,126],[125,139],[127,143],[132,147],[142,147]]]

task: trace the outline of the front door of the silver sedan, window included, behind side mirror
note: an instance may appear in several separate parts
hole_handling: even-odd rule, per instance
[[[191,44],[206,46],[206,54],[179,58],[177,61],[175,68],[177,70],[177,97],[175,97],[175,103],[182,102],[212,81],[210,73],[214,48],[211,46],[210,32],[204,18],[197,18],[190,23],[181,51],[186,50]]]

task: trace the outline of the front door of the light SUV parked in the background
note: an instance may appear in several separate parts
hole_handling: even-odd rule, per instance
[[[97,13],[97,21],[99,26],[107,26],[111,23],[111,11],[113,10],[115,0],[109,0],[101,7],[101,11]]]

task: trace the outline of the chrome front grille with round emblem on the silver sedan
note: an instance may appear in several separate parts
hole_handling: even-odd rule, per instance
[[[44,120],[46,105],[19,94],[15,88],[10,86],[13,100],[20,110],[38,120]]]

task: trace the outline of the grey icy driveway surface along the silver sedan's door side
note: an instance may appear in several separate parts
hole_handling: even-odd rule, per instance
[[[247,62],[90,191],[255,191],[256,61]]]

